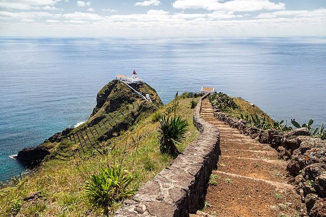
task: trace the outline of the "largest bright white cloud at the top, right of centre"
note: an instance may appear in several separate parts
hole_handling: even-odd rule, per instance
[[[177,0],[172,6],[177,9],[206,9],[210,11],[260,11],[283,10],[284,3],[273,3],[268,0],[232,0],[220,2],[219,0]]]

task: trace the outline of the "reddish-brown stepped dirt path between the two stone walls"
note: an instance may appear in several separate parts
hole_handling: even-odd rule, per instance
[[[208,99],[201,116],[221,133],[221,156],[207,189],[204,212],[214,216],[299,216],[300,197],[287,183],[277,151],[213,116]]]

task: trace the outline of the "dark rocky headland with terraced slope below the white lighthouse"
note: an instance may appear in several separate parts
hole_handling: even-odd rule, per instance
[[[35,148],[19,151],[17,159],[26,166],[37,166],[42,160],[80,156],[163,105],[156,91],[146,83],[131,86],[144,96],[149,94],[152,102],[145,101],[119,80],[112,80],[98,92],[97,104],[86,123],[58,132]]]

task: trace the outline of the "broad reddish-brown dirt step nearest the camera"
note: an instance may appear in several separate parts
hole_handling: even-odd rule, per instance
[[[210,184],[207,189],[206,213],[219,217],[292,216],[300,203],[300,196],[289,184],[221,171],[213,174],[218,178],[216,185]]]

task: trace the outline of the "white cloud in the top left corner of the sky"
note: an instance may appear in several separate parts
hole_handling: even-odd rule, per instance
[[[63,10],[55,5],[61,0],[0,0],[0,8],[18,10]]]

